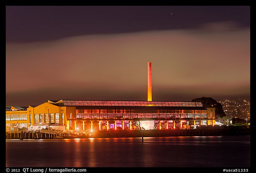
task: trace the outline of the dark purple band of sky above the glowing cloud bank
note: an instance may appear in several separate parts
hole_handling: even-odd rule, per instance
[[[226,21],[250,27],[250,6],[6,6],[6,42],[192,29]]]

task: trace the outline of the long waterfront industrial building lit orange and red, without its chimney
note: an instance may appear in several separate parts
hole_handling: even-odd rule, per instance
[[[215,108],[201,102],[59,100],[6,110],[6,131],[38,123],[68,131],[190,129],[215,125]]]

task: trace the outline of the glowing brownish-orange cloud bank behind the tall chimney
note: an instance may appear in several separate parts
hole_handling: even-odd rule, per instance
[[[216,30],[217,25],[209,23],[200,34],[191,29],[8,43],[6,105],[146,100],[147,62],[152,62],[153,100],[248,96],[250,30],[227,31],[230,23]]]

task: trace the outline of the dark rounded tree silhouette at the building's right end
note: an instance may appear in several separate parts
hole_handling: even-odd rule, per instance
[[[211,97],[201,97],[193,99],[192,101],[201,102],[204,108],[215,108],[216,118],[222,118],[226,116],[226,113],[223,110],[222,104],[218,103],[216,100]]]

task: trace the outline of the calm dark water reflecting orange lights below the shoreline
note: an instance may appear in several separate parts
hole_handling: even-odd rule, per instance
[[[250,136],[6,140],[6,167],[250,167]]]

